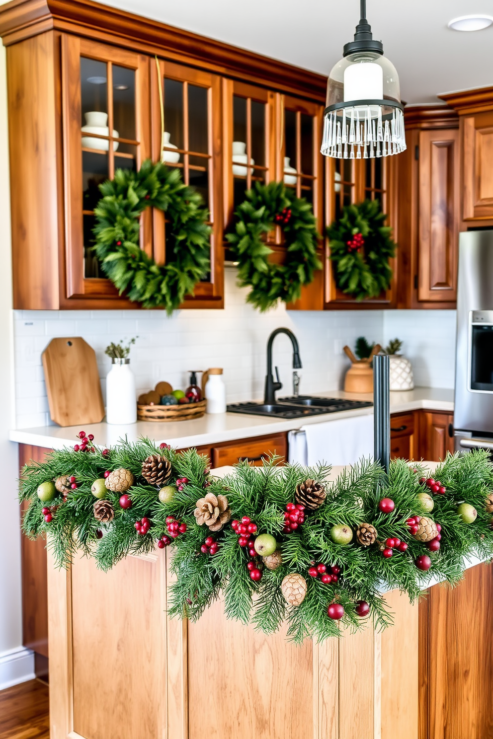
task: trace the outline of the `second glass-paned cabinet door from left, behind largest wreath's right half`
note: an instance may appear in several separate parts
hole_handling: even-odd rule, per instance
[[[186,303],[207,307],[222,302],[222,207],[220,188],[220,78],[169,61],[159,62],[161,96],[154,60],[151,75],[153,160],[178,168],[187,185],[203,197],[211,226],[211,272]],[[163,109],[161,109],[161,104]],[[161,118],[163,114],[163,118]],[[166,215],[153,213],[154,259],[173,260],[174,244],[166,236]]]

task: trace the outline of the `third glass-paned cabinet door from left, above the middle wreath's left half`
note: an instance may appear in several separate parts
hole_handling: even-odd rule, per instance
[[[223,79],[223,141],[225,226],[245,193],[258,182],[268,184],[275,173],[275,98],[273,92]]]

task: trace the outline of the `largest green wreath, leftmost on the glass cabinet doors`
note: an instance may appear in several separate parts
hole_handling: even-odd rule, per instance
[[[144,308],[166,308],[170,315],[209,270],[211,229],[200,194],[185,185],[180,171],[146,160],[138,172],[118,169],[99,186],[94,250],[103,272],[130,300]],[[174,262],[157,265],[139,246],[140,214],[146,208],[166,213],[166,238]]]

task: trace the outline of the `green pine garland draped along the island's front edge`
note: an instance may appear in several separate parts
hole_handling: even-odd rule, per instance
[[[152,454],[171,463],[171,488],[163,488],[171,491],[166,502],[161,502],[160,491],[142,476],[142,463]],[[424,481],[424,469],[405,460],[392,461],[388,474],[378,465],[362,461],[333,483],[327,483],[330,467],[306,469],[278,463],[276,457],[262,468],[239,463],[228,477],[218,480],[211,477],[207,458],[195,450],[177,454],[166,445],[156,447],[148,439],[137,443],[125,440],[103,452],[90,446],[82,451],[55,451],[43,463],[31,463],[23,470],[20,498],[29,502],[23,529],[32,538],[48,534],[48,546],[60,567],[69,566],[78,549],[107,571],[128,554],[152,551],[157,542],[161,548],[170,545],[171,571],[176,576],[169,593],[171,616],[198,619],[222,592],[228,618],[252,623],[264,633],[276,632],[287,621],[288,638],[296,642],[339,636],[338,621],[327,615],[327,607],[333,603],[344,608],[341,623],[345,627],[357,630],[369,620],[375,627],[385,627],[392,623],[392,616],[382,590],[398,588],[415,600],[433,577],[458,582],[463,576],[464,557],[493,556],[492,513],[485,503],[493,492],[493,468],[486,452],[449,455],[435,471],[444,494],[432,494]],[[104,479],[105,472],[122,468],[135,476],[126,491],[132,506],[120,505],[120,492],[103,491],[115,517],[102,524],[94,516],[97,499],[92,483]],[[57,491],[48,502],[39,500],[38,486],[46,491],[46,483],[50,487],[50,481],[63,475],[75,479],[69,493]],[[306,480],[324,485],[327,496],[316,511],[305,511],[299,528],[284,533],[286,506],[293,503],[297,486]],[[424,492],[432,497],[431,513],[418,497]],[[208,493],[226,496],[231,509],[232,520],[214,533],[207,525],[198,525],[194,517],[197,500]],[[381,511],[383,498],[393,501],[392,511]],[[458,513],[458,505],[464,502],[477,511],[472,523]],[[430,551],[428,544],[412,537],[409,520],[415,516],[432,517],[441,525],[439,551]],[[278,568],[268,569],[260,556],[248,554],[248,546],[239,545],[234,527],[245,517],[256,525],[252,537],[271,534],[276,539],[282,556]],[[149,531],[139,534],[136,522],[146,519]],[[172,522],[180,525],[176,534],[170,534]],[[333,526],[344,525],[354,532],[362,522],[378,531],[372,545],[361,545],[356,537],[344,545],[331,536]],[[210,544],[205,543],[209,536],[217,543],[217,551],[209,551]],[[394,546],[387,558],[382,550],[392,538],[406,542],[407,551]],[[431,560],[428,571],[416,565],[423,555]],[[260,579],[251,578],[249,561],[261,572]],[[313,565],[325,565],[327,572],[339,569],[337,582],[310,576]],[[307,582],[305,599],[299,605],[289,605],[282,594],[283,579],[293,573]],[[358,615],[360,601],[369,607],[367,618]]]

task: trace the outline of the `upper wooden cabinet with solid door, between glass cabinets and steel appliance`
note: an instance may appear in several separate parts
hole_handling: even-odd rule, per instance
[[[404,111],[398,157],[397,307],[453,308],[460,230],[458,115],[446,106]]]

